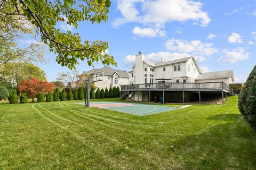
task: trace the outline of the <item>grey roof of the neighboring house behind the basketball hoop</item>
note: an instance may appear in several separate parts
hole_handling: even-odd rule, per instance
[[[89,71],[84,71],[83,74],[91,75],[91,74],[99,73],[99,72],[102,72],[102,71],[103,71],[104,75],[113,76],[115,73],[117,73],[122,78],[129,78],[129,74],[126,71],[112,69],[109,66],[105,66],[101,69],[92,69],[92,70],[89,70]]]

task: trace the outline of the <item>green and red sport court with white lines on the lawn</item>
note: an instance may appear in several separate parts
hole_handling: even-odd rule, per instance
[[[84,103],[78,103],[84,105]],[[114,102],[114,101],[97,101],[90,102],[90,106],[108,109],[111,111],[117,111],[122,113],[129,113],[137,116],[145,116],[162,112],[169,112],[177,107],[169,106],[158,106],[158,105],[146,105],[138,103],[124,103],[124,102]]]

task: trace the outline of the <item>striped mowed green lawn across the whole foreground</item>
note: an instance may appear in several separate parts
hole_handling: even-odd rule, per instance
[[[0,104],[0,169],[256,168],[256,134],[235,96],[149,116],[81,101]]]

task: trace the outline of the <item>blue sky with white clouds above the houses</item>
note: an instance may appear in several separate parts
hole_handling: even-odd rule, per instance
[[[57,27],[78,32],[82,40],[108,41],[114,69],[130,71],[139,52],[151,62],[195,56],[203,72],[233,70],[235,82],[244,82],[256,63],[256,1],[112,0],[106,23]],[[70,71],[54,53],[46,50],[45,57],[49,62],[38,66],[48,81]],[[86,61],[76,68],[93,69]]]

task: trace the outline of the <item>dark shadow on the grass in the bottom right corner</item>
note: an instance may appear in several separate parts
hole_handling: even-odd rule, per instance
[[[255,141],[256,134],[241,121],[216,125],[207,132],[181,138],[165,151],[179,156],[184,169],[254,169]]]

